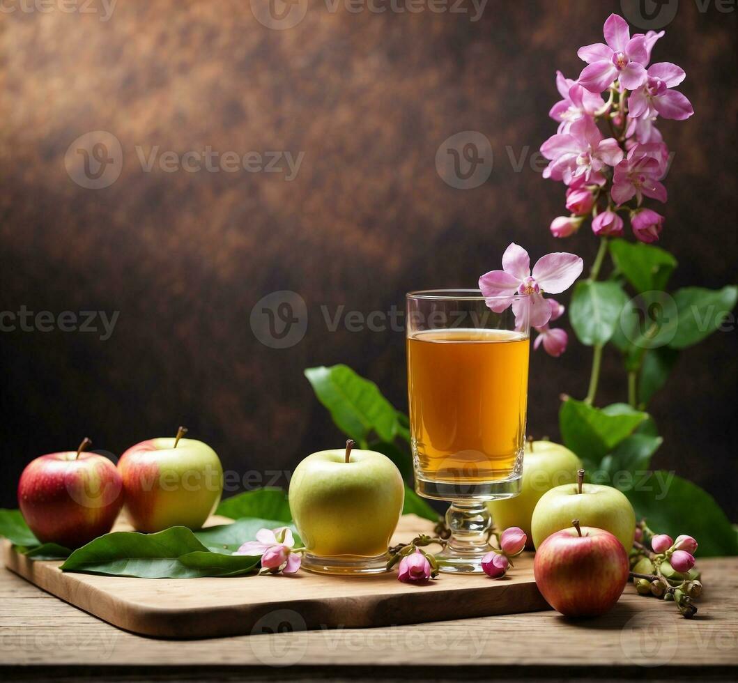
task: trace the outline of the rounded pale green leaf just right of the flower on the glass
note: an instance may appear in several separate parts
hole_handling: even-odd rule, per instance
[[[615,282],[577,283],[569,306],[569,320],[579,341],[587,346],[607,343],[626,303],[625,292]]]

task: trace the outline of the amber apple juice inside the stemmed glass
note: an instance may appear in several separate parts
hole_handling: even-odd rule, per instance
[[[416,478],[499,481],[522,457],[529,340],[493,329],[415,332],[407,384]]]

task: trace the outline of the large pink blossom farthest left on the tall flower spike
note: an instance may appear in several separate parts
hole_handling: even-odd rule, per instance
[[[590,117],[571,124],[568,133],[552,135],[541,145],[541,154],[551,163],[543,171],[544,178],[563,180],[571,185],[584,182],[604,185],[601,169],[615,166],[623,159],[623,151],[614,137],[603,139]]]

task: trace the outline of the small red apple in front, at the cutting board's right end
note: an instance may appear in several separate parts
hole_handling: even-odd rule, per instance
[[[537,549],[533,573],[546,602],[567,617],[594,617],[618,602],[630,564],[623,544],[591,526],[562,529]]]

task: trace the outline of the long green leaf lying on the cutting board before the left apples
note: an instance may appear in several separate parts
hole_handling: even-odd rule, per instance
[[[255,569],[261,558],[210,552],[184,526],[156,534],[114,532],[75,550],[63,572],[108,574],[146,579],[236,576]]]

